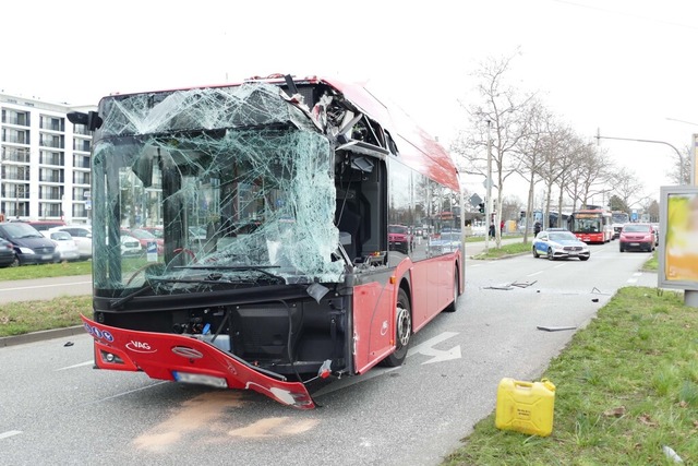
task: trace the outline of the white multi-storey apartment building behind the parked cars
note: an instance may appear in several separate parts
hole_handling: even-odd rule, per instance
[[[0,218],[89,223],[92,135],[67,115],[96,109],[0,92]]]

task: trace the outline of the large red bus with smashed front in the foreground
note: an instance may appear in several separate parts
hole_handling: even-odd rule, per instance
[[[83,320],[99,369],[306,409],[311,381],[399,366],[456,310],[461,248],[388,240],[388,225],[458,230],[431,220],[456,207],[456,167],[361,85],[275,75],[112,95],[69,119],[94,131]],[[161,229],[161,253],[122,255],[130,228]]]

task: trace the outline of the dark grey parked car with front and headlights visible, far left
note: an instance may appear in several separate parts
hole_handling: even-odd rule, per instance
[[[0,237],[12,243],[14,265],[48,264],[60,261],[56,244],[24,222],[0,224]]]

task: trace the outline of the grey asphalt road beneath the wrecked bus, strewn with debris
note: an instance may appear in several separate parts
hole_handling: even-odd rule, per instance
[[[618,287],[657,285],[638,272],[649,254],[592,248],[587,262],[468,260],[458,310],[414,335],[404,366],[315,385],[309,411],[95,371],[86,334],[0,348],[0,463],[438,465],[502,378],[535,380]]]

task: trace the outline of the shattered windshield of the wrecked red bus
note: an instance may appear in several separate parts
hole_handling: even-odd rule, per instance
[[[100,115],[95,288],[340,280],[333,151],[278,87],[109,97]]]

